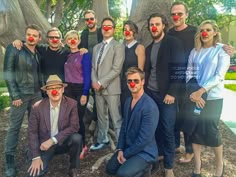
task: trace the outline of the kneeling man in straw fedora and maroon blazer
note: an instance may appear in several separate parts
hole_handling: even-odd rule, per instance
[[[47,172],[49,161],[56,154],[68,152],[70,170],[75,177],[79,168],[82,137],[78,134],[79,117],[77,102],[63,96],[64,84],[57,75],[50,75],[41,87],[48,98],[36,102],[29,118],[29,176],[42,176]]]

